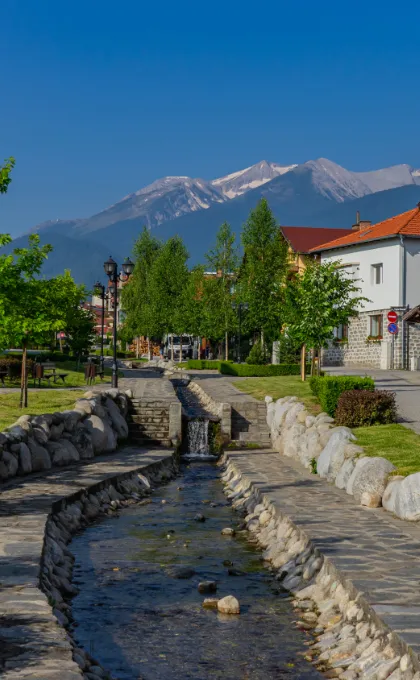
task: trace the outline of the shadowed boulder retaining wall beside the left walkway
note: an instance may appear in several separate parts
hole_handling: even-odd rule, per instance
[[[73,410],[24,415],[0,432],[0,482],[115,451],[127,439],[131,391],[86,392]]]

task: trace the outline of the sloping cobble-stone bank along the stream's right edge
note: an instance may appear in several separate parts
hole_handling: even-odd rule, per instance
[[[245,515],[247,529],[277,571],[276,579],[294,593],[298,627],[314,635],[307,660],[327,677],[341,680],[420,680],[417,655],[389,631],[363,595],[305,531],[243,478],[228,453],[223,462],[227,497]]]

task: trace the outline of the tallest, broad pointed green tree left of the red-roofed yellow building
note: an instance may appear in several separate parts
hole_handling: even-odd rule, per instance
[[[289,273],[287,243],[265,198],[251,211],[243,227],[242,245],[238,297],[248,303],[248,330],[258,332],[264,346],[280,335]]]

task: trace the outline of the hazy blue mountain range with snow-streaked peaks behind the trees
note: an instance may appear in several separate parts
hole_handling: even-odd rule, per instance
[[[159,238],[179,234],[191,264],[203,261],[222,222],[238,234],[249,211],[265,197],[283,226],[349,228],[359,210],[378,222],[420,201],[420,170],[395,165],[352,172],[326,158],[299,165],[260,161],[213,180],[164,177],[88,218],[60,219],[32,228],[54,251],[43,273],[70,269],[77,282],[103,279],[110,254],[121,263],[146,225]],[[21,236],[8,247],[24,246]]]

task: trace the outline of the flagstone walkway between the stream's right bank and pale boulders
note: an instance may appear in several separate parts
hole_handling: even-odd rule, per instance
[[[356,505],[352,497],[278,453],[228,455],[419,654],[420,527],[382,509]]]

